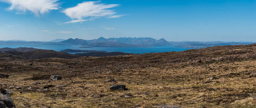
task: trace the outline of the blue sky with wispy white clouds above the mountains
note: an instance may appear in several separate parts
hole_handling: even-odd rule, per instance
[[[256,0],[0,0],[0,40],[256,42]]]

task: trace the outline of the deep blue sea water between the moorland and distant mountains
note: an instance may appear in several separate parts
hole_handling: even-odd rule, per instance
[[[177,48],[174,46],[155,46],[155,47],[136,47],[136,48],[113,48],[113,47],[93,47],[93,48],[79,48],[80,45],[0,45],[0,48],[18,48],[18,47],[28,47],[28,48],[37,48],[37,49],[46,49],[46,50],[55,50],[61,51],[65,49],[75,49],[75,50],[104,50],[108,52],[121,51],[124,53],[134,53],[134,54],[143,54],[143,53],[161,53],[161,52],[170,52],[170,51],[184,51],[188,48]],[[71,53],[75,54],[75,53]]]

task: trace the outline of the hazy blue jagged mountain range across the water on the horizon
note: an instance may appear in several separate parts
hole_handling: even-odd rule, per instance
[[[81,45],[91,47],[154,47],[154,46],[176,46],[181,48],[206,48],[210,46],[223,46],[223,45],[248,45],[255,42],[222,42],[222,41],[167,41],[165,39],[156,40],[151,37],[120,37],[120,38],[104,38],[100,37],[93,40],[83,39],[56,39],[49,42],[41,41],[0,41],[0,45]]]

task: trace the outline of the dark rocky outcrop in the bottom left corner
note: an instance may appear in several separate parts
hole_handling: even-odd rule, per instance
[[[1,88],[0,92],[0,108],[16,108],[12,101],[11,95],[7,94],[8,90]]]

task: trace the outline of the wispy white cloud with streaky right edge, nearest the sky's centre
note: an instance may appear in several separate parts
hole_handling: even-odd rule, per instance
[[[123,16],[114,15],[116,12],[109,9],[116,6],[119,6],[119,4],[104,4],[100,3],[100,1],[84,1],[83,3],[79,3],[72,8],[65,9],[63,13],[65,13],[71,19],[77,19],[80,22],[85,20],[84,18],[92,20],[101,17],[117,18]],[[75,22],[79,21],[75,20]],[[71,22],[72,21],[70,21],[70,23]]]

